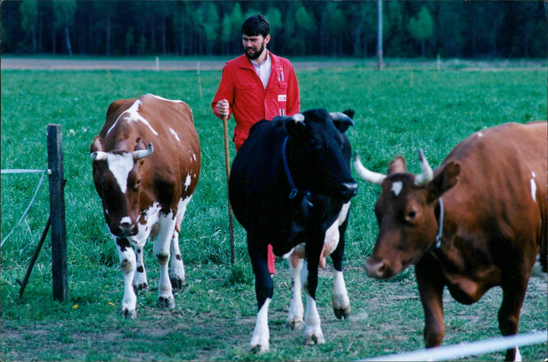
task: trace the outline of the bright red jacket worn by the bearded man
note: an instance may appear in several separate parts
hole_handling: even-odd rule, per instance
[[[217,102],[228,101],[229,117],[234,114],[236,121],[232,138],[236,151],[249,135],[251,126],[259,120],[299,113],[301,100],[295,70],[285,58],[273,53],[270,57],[272,70],[266,89],[245,54],[230,60],[223,68],[221,83],[211,106],[219,117],[215,110]]]

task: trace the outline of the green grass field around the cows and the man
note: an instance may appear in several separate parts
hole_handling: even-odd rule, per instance
[[[1,71],[1,168],[47,168],[46,126],[62,125],[64,148],[69,300],[51,297],[49,237],[23,298],[23,279],[47,221],[47,182],[29,214],[1,249],[1,361],[334,361],[423,348],[423,311],[412,269],[385,282],[368,279],[363,265],[377,233],[373,205],[379,190],[358,181],[347,231],[345,279],[351,317],[336,320],[331,271],[321,271],[318,305],[326,344],[306,347],[302,331],[286,329],[290,285],[285,261],[277,261],[270,308],[271,352],[248,353],[256,318],[253,274],[245,233],[236,224],[236,263],[229,262],[229,235],[222,122],[210,101],[221,71]],[[503,122],[547,118],[547,71],[443,71],[427,68],[321,68],[297,72],[301,109],[356,109],[347,131],[366,166],[386,172],[397,155],[419,172],[416,148],[438,166],[474,131]],[[180,245],[187,287],[177,307],[156,307],[157,263],[147,244],[151,292],[138,297],[138,319],[119,315],[123,278],[91,178],[89,146],[115,99],[153,93],[192,107],[202,152],[201,179],[182,222]],[[229,122],[232,129],[234,124]],[[234,148],[231,149],[234,157]],[[483,170],[478,170],[482,172]],[[40,174],[2,175],[1,238],[32,198]],[[445,295],[444,345],[498,337],[501,291],[491,289],[472,306]],[[534,280],[522,309],[520,332],[547,328],[547,286]],[[547,344],[521,348],[525,360],[543,360]],[[475,359],[503,359],[494,352]]]

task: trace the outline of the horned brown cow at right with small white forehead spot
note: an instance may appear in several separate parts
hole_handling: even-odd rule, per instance
[[[417,176],[407,172],[403,157],[384,175],[366,170],[355,155],[360,177],[382,186],[367,274],[386,279],[415,265],[427,348],[439,346],[445,335],[445,285],[464,304],[500,286],[499,329],[517,333],[532,272],[547,275],[547,136],[547,122],[483,129],[434,171],[420,153]],[[506,359],[521,359],[519,350],[508,350]]]

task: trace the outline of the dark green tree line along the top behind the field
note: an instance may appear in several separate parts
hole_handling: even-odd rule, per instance
[[[385,57],[546,57],[546,1],[382,1]],[[372,57],[377,1],[2,1],[3,53],[235,55],[251,14],[279,55]]]

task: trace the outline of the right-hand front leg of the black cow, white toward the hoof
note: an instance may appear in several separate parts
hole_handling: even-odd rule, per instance
[[[319,253],[308,253],[301,270],[301,283],[306,295],[306,315],[304,318],[304,344],[323,344],[325,338],[321,331],[320,315],[316,307],[316,288],[318,287]]]

